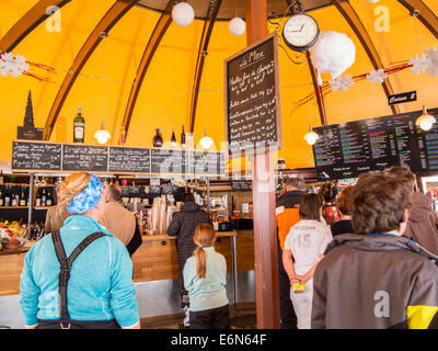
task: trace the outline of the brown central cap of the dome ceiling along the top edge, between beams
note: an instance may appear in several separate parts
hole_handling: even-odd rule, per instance
[[[205,19],[208,11],[209,1],[207,0],[189,0],[187,1],[195,10],[197,19]],[[169,0],[140,0],[138,5],[150,10],[163,12]],[[332,3],[331,0],[302,0],[306,11],[312,11]],[[269,0],[267,1],[267,13],[269,18],[283,16],[288,9],[287,0]],[[286,14],[290,14],[289,10]],[[222,0],[218,13],[218,21],[228,21],[234,16],[245,18],[245,0]]]

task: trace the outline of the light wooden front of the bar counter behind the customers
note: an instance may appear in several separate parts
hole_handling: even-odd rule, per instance
[[[231,237],[234,231],[218,233],[216,250],[232,268]],[[134,282],[178,278],[175,237],[145,235],[143,244],[132,254]],[[254,237],[252,230],[240,230],[235,237],[238,272],[254,270]],[[33,242],[16,252],[0,253],[0,296],[20,294],[20,275],[24,257]]]

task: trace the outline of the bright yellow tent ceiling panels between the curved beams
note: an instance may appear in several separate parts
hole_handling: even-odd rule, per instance
[[[19,21],[36,0],[0,0],[0,38]],[[148,1],[142,1],[147,3]],[[155,1],[157,2],[157,1]],[[191,1],[188,1],[191,2]],[[238,2],[243,2],[238,1]],[[408,60],[426,48],[438,47],[437,38],[406,8],[395,0],[368,3],[366,0],[349,1],[368,31],[384,67]],[[424,0],[435,12],[438,0]],[[99,21],[113,5],[114,0],[72,0],[60,9],[60,32],[49,32],[41,23],[13,49],[32,63],[55,68],[54,73],[38,71],[50,82],[34,78],[0,77],[0,117],[3,131],[0,138],[0,169],[10,170],[12,140],[16,126],[23,124],[27,93],[32,91],[35,126],[44,127],[56,94],[82,45]],[[376,31],[378,7],[389,10],[389,31]],[[346,33],[356,45],[356,61],[346,71],[350,76],[372,70],[372,65],[354,31],[335,7],[324,7],[311,14],[322,31]],[[141,7],[130,9],[111,30],[87,61],[69,92],[50,140],[72,140],[72,120],[78,106],[85,117],[85,143],[96,144],[93,138],[100,128],[102,115],[105,127],[113,135],[111,144],[118,143],[129,92],[136,77],[145,47],[160,18],[160,12]],[[128,146],[152,146],[155,127],[160,127],[164,140],[170,140],[174,128],[177,138],[182,125],[188,128],[188,115],[196,58],[204,21],[195,20],[187,27],[172,23],[165,33],[147,71],[132,113],[127,137]],[[273,30],[273,29],[272,29]],[[217,21],[211,34],[199,87],[195,123],[196,143],[208,133],[216,147],[224,140],[223,116],[223,60],[246,46],[246,36],[233,36],[227,21]],[[295,53],[287,49],[289,55]],[[283,49],[280,58],[280,98],[284,148],[278,157],[286,159],[288,168],[313,167],[312,149],[302,136],[309,127],[321,124],[315,103],[304,104],[292,111],[296,103],[313,91],[308,64],[292,64]],[[324,81],[331,79],[323,73]],[[401,104],[400,111],[419,110],[423,104],[438,107],[438,77],[414,75],[408,69],[391,75],[389,80],[395,93],[417,90],[418,101]],[[391,114],[381,84],[362,80],[348,91],[333,92],[325,98],[328,124]],[[67,126],[67,139],[59,128]],[[57,133],[58,132],[58,133]]]

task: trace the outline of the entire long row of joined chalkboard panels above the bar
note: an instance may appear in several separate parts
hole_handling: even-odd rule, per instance
[[[224,174],[224,154],[15,140],[12,170],[212,177]]]

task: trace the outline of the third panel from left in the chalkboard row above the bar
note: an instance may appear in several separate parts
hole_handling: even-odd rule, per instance
[[[108,172],[149,173],[151,149],[110,146]]]

